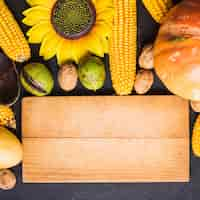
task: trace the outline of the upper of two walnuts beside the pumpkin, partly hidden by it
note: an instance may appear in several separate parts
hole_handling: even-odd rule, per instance
[[[142,53],[139,57],[139,65],[144,69],[153,69],[153,45],[148,44],[144,46]]]

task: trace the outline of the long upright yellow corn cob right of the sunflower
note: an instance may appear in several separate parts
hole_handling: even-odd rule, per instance
[[[109,44],[113,88],[118,95],[132,92],[136,74],[136,0],[113,0],[115,15]]]

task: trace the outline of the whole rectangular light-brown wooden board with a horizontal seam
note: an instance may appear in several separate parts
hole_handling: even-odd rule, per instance
[[[32,97],[23,182],[187,182],[189,106],[175,96]]]

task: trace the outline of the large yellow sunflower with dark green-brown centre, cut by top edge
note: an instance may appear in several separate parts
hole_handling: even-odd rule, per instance
[[[76,63],[87,53],[103,57],[112,30],[112,0],[27,0],[23,23],[29,42],[41,43],[45,60]]]

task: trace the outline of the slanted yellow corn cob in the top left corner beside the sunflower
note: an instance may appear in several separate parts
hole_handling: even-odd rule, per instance
[[[4,0],[0,0],[0,47],[12,60],[30,58],[30,47]]]

